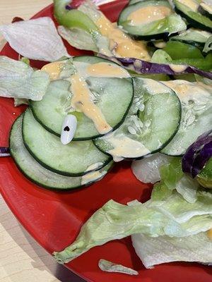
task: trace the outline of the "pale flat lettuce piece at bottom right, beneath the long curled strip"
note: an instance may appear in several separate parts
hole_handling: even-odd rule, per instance
[[[165,262],[212,262],[212,242],[204,232],[184,238],[151,238],[140,233],[132,235],[131,240],[147,269]]]

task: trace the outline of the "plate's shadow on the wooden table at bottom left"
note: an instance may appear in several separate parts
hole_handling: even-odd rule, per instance
[[[51,255],[40,247],[32,236],[25,231],[22,226],[20,226],[20,223],[18,223],[11,212],[0,216],[0,222],[17,245],[21,247],[29,257],[31,257],[31,264],[35,269],[48,271],[49,274],[52,274],[55,277],[55,282],[56,279],[61,282],[85,282],[82,278],[69,271],[69,269],[66,269],[65,266],[58,264]],[[13,228],[11,228],[11,226],[13,226]]]

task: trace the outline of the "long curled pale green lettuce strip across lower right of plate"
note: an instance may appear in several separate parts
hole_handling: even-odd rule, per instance
[[[54,252],[63,264],[110,240],[142,233],[150,237],[168,235],[184,238],[212,228],[212,195],[199,192],[195,203],[188,203],[176,191],[165,201],[126,206],[110,200],[81,228],[76,240],[61,252]]]

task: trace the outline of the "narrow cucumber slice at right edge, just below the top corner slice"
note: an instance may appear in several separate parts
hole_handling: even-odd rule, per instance
[[[180,41],[183,43],[191,44],[195,47],[203,48],[204,44],[206,44],[206,41],[210,36],[212,36],[211,32],[189,28],[189,30],[180,32],[179,35],[170,37],[170,40]]]

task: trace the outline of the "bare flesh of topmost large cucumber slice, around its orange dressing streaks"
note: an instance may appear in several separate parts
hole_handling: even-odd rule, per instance
[[[88,64],[100,62],[113,64],[111,61],[95,56],[78,56],[73,61]],[[134,94],[131,78],[89,77],[86,82],[95,97],[95,104],[104,114],[107,123],[113,130],[119,127],[129,111]],[[70,86],[67,80],[54,80],[50,83],[42,101],[30,101],[30,107],[37,121],[57,136],[61,134],[62,123],[71,106]],[[100,136],[90,118],[78,111],[71,114],[75,114],[77,118],[73,140],[90,140]]]

